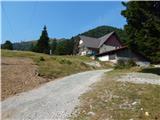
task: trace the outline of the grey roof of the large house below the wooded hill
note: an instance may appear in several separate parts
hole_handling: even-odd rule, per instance
[[[101,45],[115,32],[108,33],[100,38],[93,38],[87,36],[80,36],[86,47],[99,48]]]

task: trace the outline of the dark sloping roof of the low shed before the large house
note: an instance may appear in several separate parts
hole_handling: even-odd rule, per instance
[[[117,49],[114,49],[114,50],[103,52],[103,53],[97,54],[96,57],[100,57],[100,56],[104,56],[104,55],[108,55],[108,54],[113,54],[113,53],[116,53],[116,52],[124,50],[124,49],[128,49],[128,47],[127,46],[123,46],[121,48],[117,48]]]

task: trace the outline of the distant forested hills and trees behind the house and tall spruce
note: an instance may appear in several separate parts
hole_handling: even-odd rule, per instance
[[[117,35],[120,37],[121,41],[126,43],[127,35],[122,29],[118,29],[111,26],[99,26],[94,29],[88,30],[84,33],[80,33],[71,39],[52,39],[50,38],[50,45],[51,49],[53,50],[54,54],[76,54],[78,52],[78,42],[79,42],[79,35],[86,35],[90,37],[101,37],[115,31]],[[67,40],[67,42],[66,42]],[[36,44],[37,40],[28,41],[28,42],[20,42],[20,43],[13,43],[14,50],[24,50],[24,51],[32,51],[33,45]],[[56,42],[56,43],[55,43]],[[74,48],[72,47],[74,45]]]

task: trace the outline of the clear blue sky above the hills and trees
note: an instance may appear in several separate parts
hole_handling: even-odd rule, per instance
[[[100,25],[123,28],[121,1],[3,2],[2,42],[37,40],[44,25],[50,38],[70,38]]]

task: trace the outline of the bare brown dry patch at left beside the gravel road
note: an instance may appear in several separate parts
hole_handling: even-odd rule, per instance
[[[49,81],[37,76],[37,66],[30,58],[2,57],[1,60],[2,100]]]

